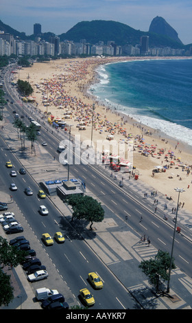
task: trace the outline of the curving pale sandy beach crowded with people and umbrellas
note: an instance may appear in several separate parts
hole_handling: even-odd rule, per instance
[[[52,122],[56,120],[73,124],[71,134],[80,135],[82,142],[91,142],[92,137],[95,147],[98,140],[106,140],[110,135],[113,139],[108,142],[123,142],[127,147],[132,144],[133,166],[134,172],[139,174],[138,181],[149,184],[174,201],[178,199],[174,188],[183,188],[185,192],[180,194],[181,208],[192,211],[192,155],[189,148],[178,140],[136,122],[128,115],[99,104],[97,98],[86,91],[97,82],[95,69],[99,65],[136,59],[142,58],[51,60],[49,63],[34,63],[32,67],[21,69],[19,78],[29,80],[32,85],[32,96],[36,100],[34,105],[43,111],[47,127],[53,126]],[[128,172],[123,175],[126,176],[129,176]]]

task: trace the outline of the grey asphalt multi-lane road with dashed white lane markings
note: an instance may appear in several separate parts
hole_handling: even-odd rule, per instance
[[[5,78],[6,80],[6,78]],[[10,91],[10,83],[5,82],[5,91],[8,93],[10,100],[15,102],[15,98],[12,98]],[[8,104],[8,111],[10,111],[10,120],[12,120],[12,110],[18,109],[22,111],[21,104]],[[25,107],[24,107],[25,109]],[[21,114],[21,112],[20,112]],[[50,132],[47,133],[45,129],[42,129],[39,141],[47,142],[47,151],[56,156],[59,159],[59,155],[56,153],[56,147],[59,140],[54,137]],[[1,189],[9,192],[8,186],[10,183],[9,172],[5,168],[5,162],[11,159],[14,168],[18,170],[21,165],[19,160],[8,151],[8,148],[1,140]],[[152,244],[156,249],[163,249],[167,252],[171,252],[171,243],[173,237],[173,227],[166,221],[163,221],[150,210],[150,208],[143,207],[143,204],[139,200],[134,199],[134,192],[129,190],[128,194],[125,190],[119,188],[113,181],[110,181],[109,177],[104,176],[101,172],[101,168],[97,165],[83,165],[75,164],[70,166],[70,172],[73,177],[81,176],[86,182],[86,188],[93,192],[99,200],[106,205],[106,207],[113,212],[119,219],[127,218],[127,225],[130,230],[134,230],[138,234],[146,232],[150,237]],[[19,190],[14,192],[14,199],[21,208],[23,214],[27,217],[30,225],[33,227],[37,236],[41,236],[42,233],[48,231],[53,234],[56,223],[59,223],[60,229],[67,233],[69,238],[67,239],[64,248],[62,245],[53,245],[49,247],[50,258],[56,263],[56,267],[67,281],[71,291],[75,295],[78,295],[79,289],[86,287],[88,282],[86,280],[89,271],[97,271],[101,278],[104,280],[105,288],[102,291],[94,293],[97,309],[127,309],[135,308],[138,304],[132,299],[128,291],[120,284],[120,282],[112,275],[94,252],[86,245],[84,240],[78,236],[73,230],[64,216],[54,207],[54,205],[46,199],[45,205],[49,209],[49,216],[40,216],[38,214],[38,201],[36,194],[33,197],[26,197],[23,190],[27,186],[31,186],[34,192],[38,191],[37,184],[33,181],[32,177],[25,175],[24,178],[20,175],[14,179],[16,186]],[[143,221],[140,222],[141,215]],[[191,232],[189,232],[191,234]],[[183,235],[176,236],[176,242],[174,247],[174,258],[176,265],[182,269],[186,274],[191,276],[191,241],[185,238]],[[120,277],[121,280],[121,277]],[[126,284],[125,284],[126,285]],[[88,285],[89,287],[89,285]]]

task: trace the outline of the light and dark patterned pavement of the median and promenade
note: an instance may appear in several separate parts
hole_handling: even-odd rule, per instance
[[[53,133],[54,135],[54,133]],[[58,133],[57,133],[58,135]],[[12,125],[8,125],[7,130],[5,127],[3,137],[9,140],[9,146],[14,144],[16,145],[17,133],[16,129]],[[18,142],[20,147],[20,143]],[[15,150],[16,151],[16,150]],[[46,151],[39,145],[36,151],[36,157],[30,157],[29,161],[21,159],[21,163],[35,181],[39,182],[40,179],[51,176],[57,177],[56,172],[51,173],[53,166],[55,168],[58,165],[59,175],[64,172],[64,168],[60,168],[58,161],[53,160],[53,157],[46,153]],[[45,161],[46,165],[43,165],[42,161]],[[41,161],[41,162],[40,162]],[[27,164],[28,163],[28,164]],[[40,168],[39,168],[39,165]],[[45,172],[45,167],[47,165],[50,167],[50,172]],[[38,170],[37,170],[38,168]],[[108,178],[110,181],[115,181],[114,178],[110,178],[110,172],[108,168],[104,166],[99,166],[101,172],[103,172],[104,177]],[[121,180],[122,173],[116,173],[117,183]],[[123,179],[124,188],[128,187],[134,192],[134,198],[138,199],[140,203],[145,205],[145,208],[154,210],[154,198],[151,197],[150,193],[154,191],[154,188],[147,186],[141,180],[135,180],[134,177]],[[148,197],[144,197],[145,192],[148,192]],[[92,192],[86,191],[86,194],[91,194]],[[174,214],[171,213],[172,208],[175,208],[176,205],[173,201],[167,201],[166,197],[163,194],[157,192],[156,199],[158,198],[158,209],[163,210],[165,202],[168,205],[165,213],[168,215],[169,225],[174,225],[173,217]],[[3,201],[9,201],[10,197],[5,193],[1,192],[1,199]],[[58,198],[50,197],[51,201],[56,204],[57,208],[62,210],[64,214],[68,214],[69,217],[69,208],[67,205]],[[16,205],[14,201],[10,203],[11,208],[15,208]],[[10,210],[10,208],[9,208]],[[139,234],[136,234],[134,230],[127,225],[125,219],[119,219],[111,210],[106,210],[106,216],[102,223],[94,223],[93,232],[90,230],[82,230],[81,234],[86,241],[86,243],[93,249],[97,256],[103,261],[110,271],[119,278],[121,283],[128,289],[132,296],[141,306],[141,309],[191,309],[192,306],[192,280],[189,276],[184,274],[179,268],[174,269],[171,272],[171,298],[166,296],[157,296],[153,291],[152,287],[149,285],[149,282],[145,275],[139,273],[139,263],[141,260],[152,258],[156,255],[158,250],[154,248],[153,245],[147,247],[147,245],[141,243]],[[66,212],[64,212],[66,211]],[[22,216],[22,214],[21,214]],[[162,213],[158,212],[156,216],[162,216]],[[178,216],[178,225],[181,227],[180,234],[187,234],[187,238],[191,239],[191,214],[187,210],[180,209]],[[23,225],[23,223],[22,223]],[[26,225],[27,229],[27,225]],[[78,230],[78,228],[76,228]],[[29,230],[29,228],[28,228]],[[1,235],[3,236],[3,229],[0,227]],[[93,236],[94,233],[94,236]],[[30,230],[32,235],[32,231]],[[32,236],[34,241],[36,237]],[[35,248],[34,248],[35,249]],[[48,261],[48,260],[47,260]],[[130,266],[131,265],[131,266]],[[11,276],[12,286],[14,287],[14,300],[11,302],[8,307],[1,307],[1,309],[41,309],[39,302],[36,302],[34,299],[34,288],[27,281],[25,273],[23,272],[22,267],[19,265],[16,268],[9,269],[5,267],[3,269],[7,274]],[[126,275],[123,276],[123,271]],[[119,274],[122,274],[119,276]],[[129,275],[128,275],[129,274]],[[128,278],[128,276],[130,276]],[[62,278],[59,278],[58,285],[64,285]],[[75,304],[72,293],[69,291],[68,287],[65,288],[68,293],[68,298],[70,304]]]

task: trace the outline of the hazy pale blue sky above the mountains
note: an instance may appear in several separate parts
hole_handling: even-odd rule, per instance
[[[147,32],[152,19],[162,16],[182,43],[192,43],[191,0],[1,0],[0,19],[6,25],[34,33],[34,23],[42,32],[67,32],[80,21],[112,20]]]

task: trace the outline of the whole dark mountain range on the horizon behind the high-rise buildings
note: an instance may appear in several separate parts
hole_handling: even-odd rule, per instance
[[[162,26],[161,29],[158,26]],[[156,27],[157,26],[157,27]],[[14,37],[19,37],[23,40],[34,40],[35,36],[26,36],[24,32],[18,32],[12,27],[5,25],[0,20],[0,30],[12,34]],[[49,41],[52,32],[41,34],[42,40]],[[119,23],[117,21],[82,21],[73,26],[68,32],[60,34],[60,41],[68,40],[79,43],[82,39],[86,39],[86,43],[96,44],[103,41],[107,44],[108,41],[114,41],[117,45],[138,45],[141,36],[149,36],[149,47],[171,47],[184,48],[178,34],[173,28],[166,23],[165,19],[156,17],[153,19],[149,32],[135,30],[129,25]]]

